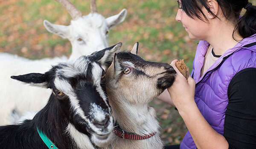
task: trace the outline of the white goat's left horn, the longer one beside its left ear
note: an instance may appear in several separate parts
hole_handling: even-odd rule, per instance
[[[68,13],[72,17],[73,20],[77,20],[79,17],[81,17],[83,14],[81,11],[79,11],[75,5],[70,3],[69,0],[56,0],[57,2],[61,3],[62,6],[64,6],[65,9],[67,9]]]

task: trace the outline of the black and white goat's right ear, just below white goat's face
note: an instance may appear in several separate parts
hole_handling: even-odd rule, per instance
[[[90,57],[90,60],[97,61],[101,66],[109,67],[113,60],[114,54],[120,51],[121,46],[122,43],[117,43],[116,45],[98,51]]]

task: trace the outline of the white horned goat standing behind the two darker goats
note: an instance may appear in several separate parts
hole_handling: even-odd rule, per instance
[[[95,0],[91,2],[91,13],[82,13],[68,0],[57,0],[70,13],[73,20],[69,26],[56,25],[44,20],[49,32],[70,40],[72,54],[69,60],[88,55],[108,47],[109,29],[121,23],[127,14],[123,9],[119,14],[104,18],[96,12]],[[9,116],[13,109],[23,114],[26,111],[38,111],[47,103],[51,90],[34,86],[24,86],[10,76],[29,72],[44,73],[58,62],[67,61],[67,57],[29,60],[16,55],[0,53],[0,125],[10,124]]]

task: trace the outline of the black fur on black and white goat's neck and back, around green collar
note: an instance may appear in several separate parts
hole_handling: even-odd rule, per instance
[[[0,126],[0,148],[48,149],[38,135],[38,127],[59,149],[76,149],[68,134],[64,133],[68,122],[58,101],[51,95],[47,105],[33,120],[25,120],[20,125]]]

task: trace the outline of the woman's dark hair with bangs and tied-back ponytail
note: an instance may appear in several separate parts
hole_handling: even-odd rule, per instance
[[[256,6],[250,5],[248,0],[216,1],[227,20],[233,21],[236,25],[233,31],[233,38],[236,31],[238,31],[239,35],[243,38],[256,34]],[[179,6],[191,18],[197,17],[198,19],[203,20],[201,17],[202,14],[204,19],[207,20],[207,17],[201,10],[202,7],[207,9],[210,14],[217,17],[207,6],[207,0],[180,0]],[[239,19],[241,10],[246,6],[248,7],[246,8],[247,10],[245,14]]]

